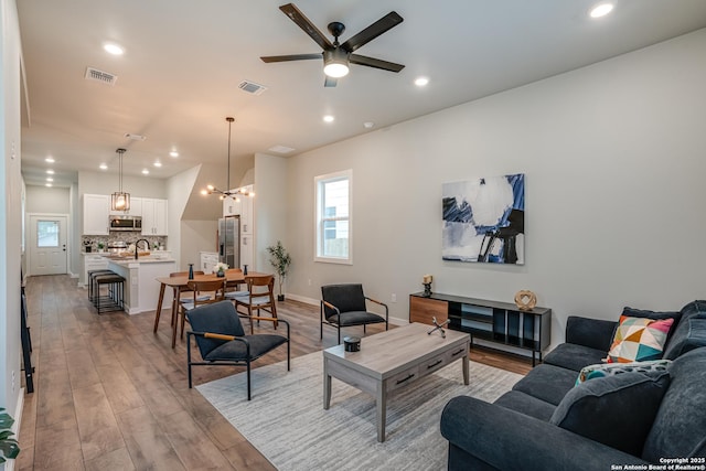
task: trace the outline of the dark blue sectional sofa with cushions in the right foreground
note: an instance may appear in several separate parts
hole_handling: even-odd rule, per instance
[[[672,362],[576,385],[582,367],[607,356],[617,322],[570,317],[566,343],[495,403],[460,396],[447,404],[448,469],[706,468],[706,301],[623,314],[673,318],[662,356]]]

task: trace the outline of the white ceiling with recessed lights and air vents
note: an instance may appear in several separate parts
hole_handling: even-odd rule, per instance
[[[22,171],[28,184],[44,184],[51,167],[56,185],[101,162],[117,172],[119,147],[128,149],[126,174],[225,168],[226,116],[236,118],[235,169],[255,152],[277,154],[274,146],[295,154],[368,132],[366,121],[379,129],[706,26],[704,0],[614,0],[601,20],[588,17],[591,0],[298,0],[327,35],[329,22],[343,22],[341,42],[392,10],[404,18],[356,51],[405,64],[400,73],[352,65],[338,87],[324,88],[319,61],[259,60],[320,52],[278,9],[282,0],[17,3],[29,97]],[[108,41],[125,55],[105,53]],[[88,66],[117,75],[115,86],[84,79]],[[413,83],[420,75],[426,88]],[[268,89],[249,95],[238,89],[243,81]],[[325,114],[335,121],[323,122]]]

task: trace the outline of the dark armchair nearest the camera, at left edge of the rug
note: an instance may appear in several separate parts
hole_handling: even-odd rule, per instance
[[[247,400],[250,400],[250,363],[266,353],[287,344],[287,371],[290,370],[289,322],[287,336],[278,334],[246,335],[233,302],[222,301],[192,309],[186,313],[192,331],[186,332],[189,387],[192,387],[192,366],[245,365],[247,367]],[[275,318],[252,318],[276,322]],[[250,321],[252,322],[252,321]],[[196,340],[203,361],[192,360],[191,338]]]

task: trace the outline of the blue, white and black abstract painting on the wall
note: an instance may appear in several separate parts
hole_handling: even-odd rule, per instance
[[[524,265],[525,175],[443,183],[445,260]]]

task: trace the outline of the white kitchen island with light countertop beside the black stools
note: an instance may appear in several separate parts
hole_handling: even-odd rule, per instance
[[[161,283],[159,277],[169,277],[176,271],[173,258],[157,258],[154,256],[138,259],[126,257],[105,257],[108,269],[125,278],[125,312],[138,314],[153,311],[157,306]],[[171,299],[164,299],[162,306],[169,308]]]

